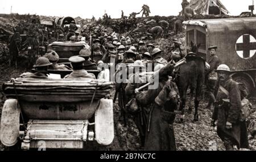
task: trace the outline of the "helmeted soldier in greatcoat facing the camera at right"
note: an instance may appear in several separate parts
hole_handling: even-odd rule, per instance
[[[241,121],[241,91],[238,83],[230,77],[231,71],[225,64],[218,66],[216,105],[212,115],[212,126],[217,121],[217,134],[226,150],[248,148],[246,121]]]

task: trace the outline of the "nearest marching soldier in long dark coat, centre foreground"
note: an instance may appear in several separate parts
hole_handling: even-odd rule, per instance
[[[155,70],[160,70],[163,65],[159,64]],[[148,89],[146,92],[136,94],[138,105],[143,105],[146,114],[146,138],[144,150],[146,151],[174,151],[175,136],[174,107],[170,99],[171,83],[168,76],[159,75],[159,85],[157,89]]]

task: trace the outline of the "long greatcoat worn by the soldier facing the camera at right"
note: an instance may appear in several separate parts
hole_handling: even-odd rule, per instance
[[[217,134],[225,142],[228,138],[238,148],[248,148],[248,139],[245,122],[239,120],[241,113],[241,93],[236,81],[228,78],[222,85],[229,92],[229,104],[222,102],[228,96],[218,88],[216,100],[219,103],[214,107],[212,119],[217,120]],[[225,128],[226,122],[232,123],[232,129]],[[241,131],[242,130],[242,131]]]

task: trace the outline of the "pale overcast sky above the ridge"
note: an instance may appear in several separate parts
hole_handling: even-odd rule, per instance
[[[9,14],[12,6],[12,13],[18,14],[81,18],[92,18],[94,15],[98,19],[106,11],[112,18],[120,18],[121,10],[129,16],[132,12],[141,11],[143,4],[146,4],[150,7],[150,15],[170,16],[179,14],[181,2],[182,0],[0,0],[0,13]],[[243,11],[248,11],[248,6],[253,3],[252,0],[221,0],[221,2],[229,10],[230,15],[240,15]]]

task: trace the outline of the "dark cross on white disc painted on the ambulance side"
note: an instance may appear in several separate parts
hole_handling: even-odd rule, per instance
[[[242,59],[253,57],[256,52],[256,39],[254,36],[245,34],[237,39],[236,43],[237,55]]]

